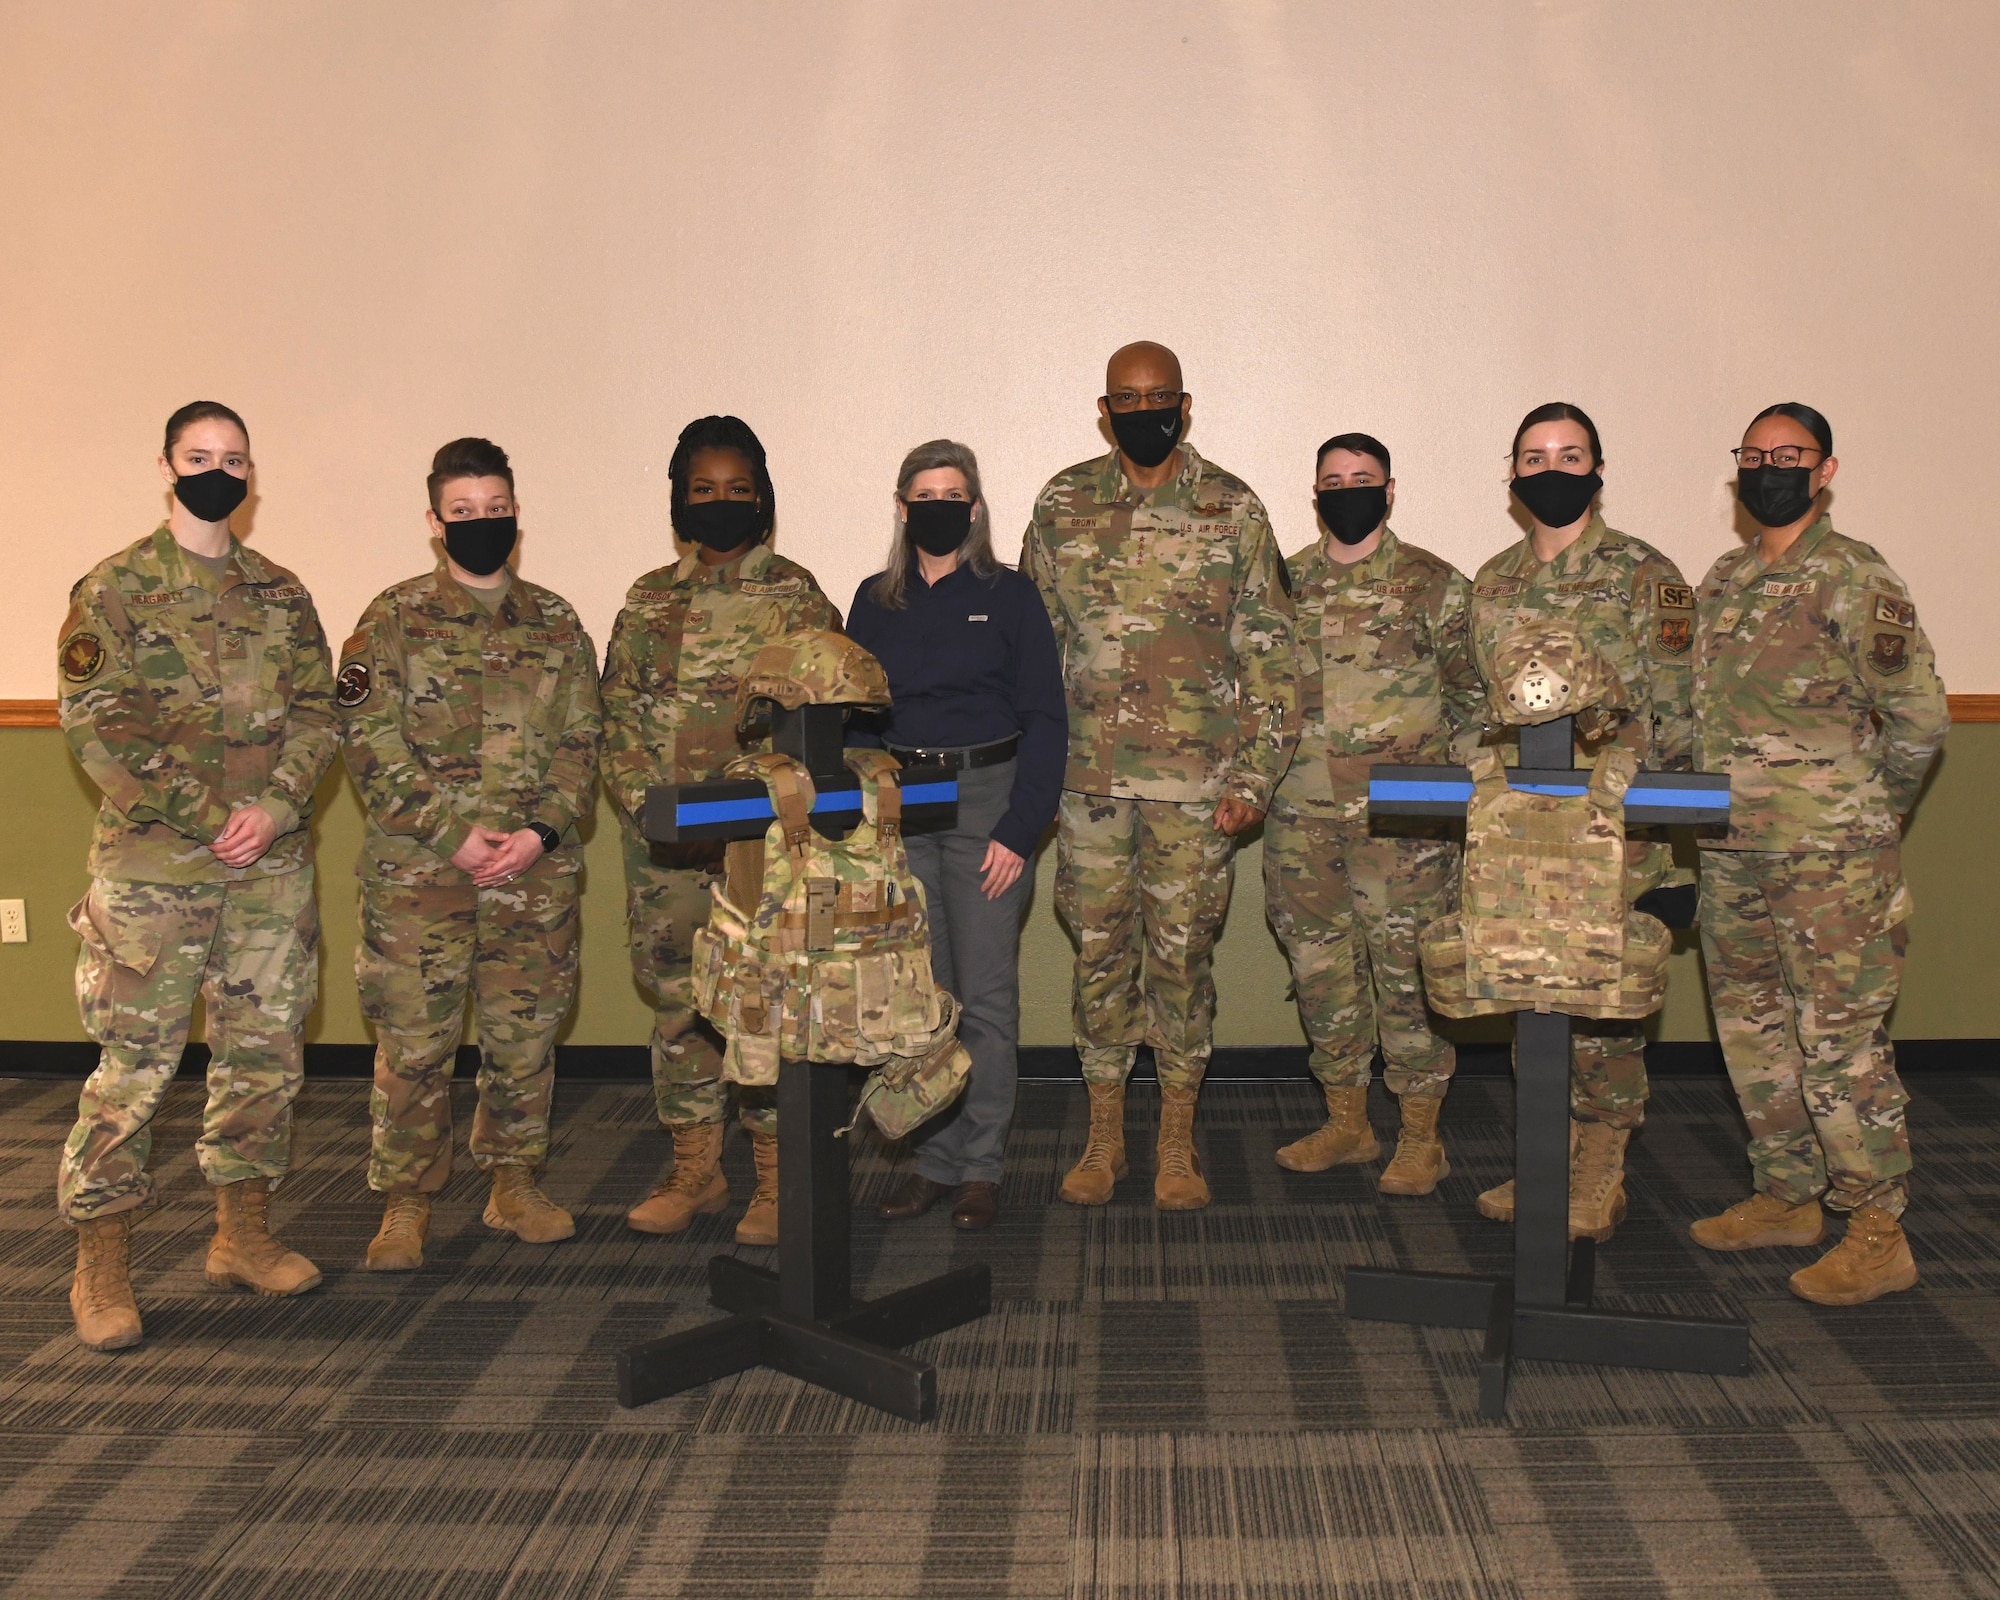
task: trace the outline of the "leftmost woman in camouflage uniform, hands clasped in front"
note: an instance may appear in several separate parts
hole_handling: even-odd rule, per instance
[[[128,1260],[154,1182],[152,1118],[206,1000],[208,1106],[196,1160],[216,1188],[210,1282],[290,1294],[320,1282],[264,1222],[292,1158],[306,1014],[318,1000],[312,792],[334,758],[334,676],[304,584],[228,534],[248,436],[224,406],[168,422],[186,500],[232,476],[222,500],[92,568],[72,590],[56,662],[62,728],[98,786],[76,998],[102,1046],[62,1150],[56,1204],[78,1230],[70,1294],[98,1350],[140,1340]],[[174,528],[224,554],[186,550]],[[268,818],[268,846],[244,830]],[[216,852],[222,854],[216,854]],[[238,864],[226,864],[230,856]]]

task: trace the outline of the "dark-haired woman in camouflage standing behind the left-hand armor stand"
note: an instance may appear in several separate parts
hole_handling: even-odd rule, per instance
[[[762,446],[754,454],[752,446],[756,436],[736,418],[690,424],[674,458],[676,500],[704,452],[740,456],[762,500],[768,478],[758,484]],[[728,560],[714,554],[696,542],[672,566],[632,584],[604,656],[604,786],[618,804],[624,844],[632,976],[654,1006],[654,1104],[674,1136],[674,1174],[626,1216],[640,1232],[680,1232],[698,1210],[726,1204],[718,1162],[730,1096],[722,1038],[694,1004],[690,968],[694,930],[708,922],[710,888],[722,878],[722,846],[648,844],[640,830],[646,788],[708,782],[738,756],[766,748],[768,736],[736,726],[742,674],[760,648],[786,634],[840,626],[812,574],[762,538]],[[754,1148],[768,1144],[776,1172],[776,1090],[740,1088],[738,1100]],[[776,1226],[776,1194],[770,1214]],[[772,1242],[762,1226],[752,1234],[746,1242]]]

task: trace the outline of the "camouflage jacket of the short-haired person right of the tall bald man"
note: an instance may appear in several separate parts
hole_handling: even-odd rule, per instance
[[[1486,692],[1466,638],[1470,586],[1394,528],[1348,566],[1324,538],[1288,566],[1300,732],[1282,788],[1316,814],[1364,822],[1370,766],[1450,762],[1478,734]]]

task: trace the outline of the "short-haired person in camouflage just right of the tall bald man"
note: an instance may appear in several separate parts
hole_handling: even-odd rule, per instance
[[[1394,480],[1380,444],[1336,436],[1320,466],[1336,516],[1338,496],[1374,490],[1386,518]],[[1416,940],[1458,904],[1458,846],[1418,830],[1372,834],[1368,768],[1450,762],[1454,736],[1476,736],[1484,694],[1466,642],[1466,580],[1386,520],[1352,544],[1322,522],[1290,572],[1300,736],[1264,824],[1264,904],[1292,964],[1328,1116],[1278,1150],[1278,1164],[1324,1172],[1380,1154],[1368,1126],[1380,1042],[1402,1114],[1380,1188],[1428,1194],[1450,1172],[1436,1124],[1456,1058],[1430,1030]]]

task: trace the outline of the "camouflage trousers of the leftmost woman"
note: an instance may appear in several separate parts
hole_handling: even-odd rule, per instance
[[[98,878],[70,926],[76,1002],[100,1046],[62,1148],[56,1204],[70,1222],[150,1204],[152,1118],[180,1068],[194,996],[208,1008],[208,1106],[194,1144],[210,1184],[282,1178],[302,1030],[320,998],[312,870],[232,884]]]

